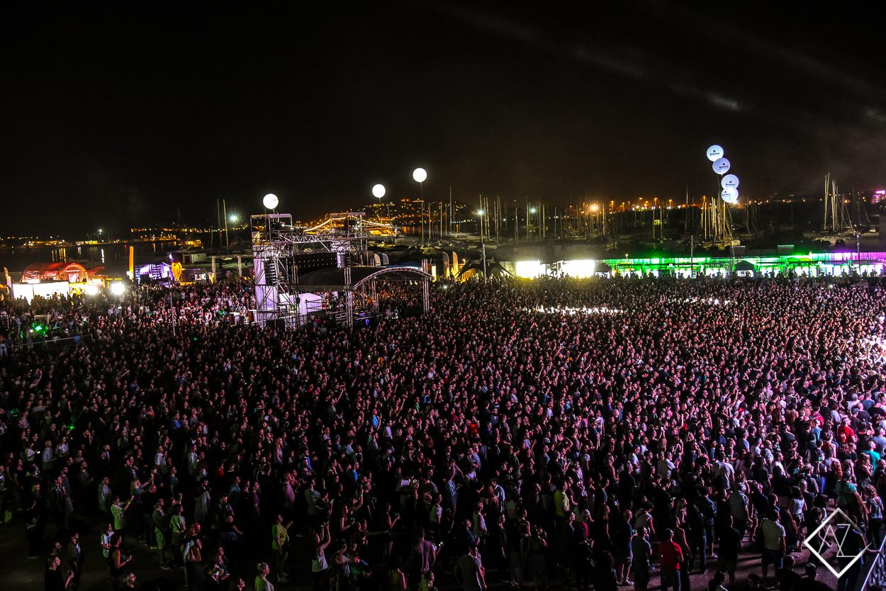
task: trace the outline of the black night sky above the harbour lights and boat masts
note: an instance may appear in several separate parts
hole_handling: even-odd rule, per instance
[[[4,236],[214,222],[270,191],[310,219],[374,183],[417,197],[416,166],[432,199],[697,198],[715,143],[742,198],[886,186],[881,21],[852,7],[18,4]]]

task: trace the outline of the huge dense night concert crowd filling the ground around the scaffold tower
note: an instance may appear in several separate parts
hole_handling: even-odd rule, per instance
[[[133,552],[202,589],[716,591],[747,552],[814,588],[836,509],[882,540],[881,282],[440,282],[353,330],[207,322],[245,280],[4,300],[0,535],[51,591],[145,587]]]

